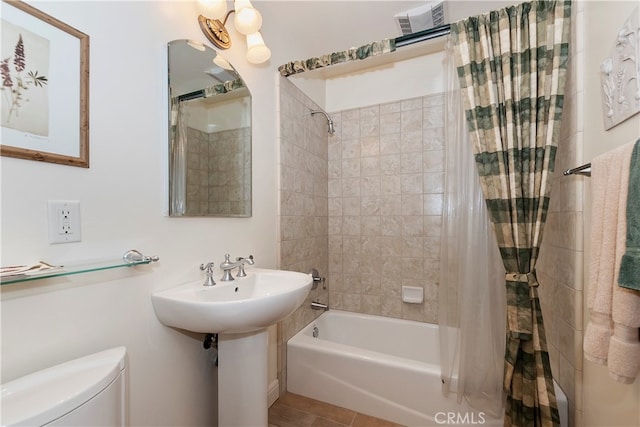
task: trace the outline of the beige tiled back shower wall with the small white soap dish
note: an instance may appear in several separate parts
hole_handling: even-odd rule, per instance
[[[444,96],[331,116],[331,307],[437,323]],[[424,289],[424,302],[403,303],[402,286]]]

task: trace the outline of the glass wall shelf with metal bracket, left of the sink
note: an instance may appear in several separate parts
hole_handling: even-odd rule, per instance
[[[111,270],[114,268],[133,267],[145,265],[158,261],[157,256],[144,256],[136,250],[125,252],[121,258],[91,263],[60,266],[50,270],[43,270],[36,273],[18,274],[0,279],[0,285],[10,285],[13,283],[29,282],[32,280],[50,279],[52,277],[71,276],[73,274],[91,273],[94,271]]]

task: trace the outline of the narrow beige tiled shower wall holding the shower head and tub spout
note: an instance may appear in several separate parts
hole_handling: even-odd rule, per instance
[[[327,122],[302,91],[286,78],[280,86],[279,159],[279,268],[320,276],[328,274],[327,223]],[[330,286],[330,282],[326,282]],[[329,302],[329,292],[320,284],[304,304],[278,324],[278,379],[286,390],[286,343],[322,312],[310,308],[311,301]]]

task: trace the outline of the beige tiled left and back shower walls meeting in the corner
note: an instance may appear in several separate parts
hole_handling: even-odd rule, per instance
[[[437,322],[444,187],[444,96],[330,113],[285,78],[280,85],[280,265],[327,278],[278,326],[278,378],[286,342],[332,308]],[[424,289],[422,304],[401,300]]]

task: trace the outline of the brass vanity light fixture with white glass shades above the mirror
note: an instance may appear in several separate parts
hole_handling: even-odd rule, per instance
[[[247,61],[262,64],[271,57],[271,50],[265,45],[260,27],[262,15],[249,0],[235,0],[234,8],[227,12],[226,0],[200,0],[204,12],[210,16],[224,16],[224,20],[198,16],[198,22],[204,35],[219,49],[231,47],[231,36],[225,25],[229,16],[235,12],[234,26],[236,31],[247,37]]]

